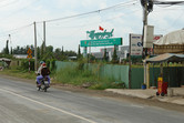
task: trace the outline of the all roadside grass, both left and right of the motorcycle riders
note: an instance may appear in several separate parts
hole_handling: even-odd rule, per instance
[[[0,74],[29,80],[35,79],[35,73],[33,71],[29,72],[28,70],[23,71],[20,69],[4,69],[3,71],[0,71]],[[50,76],[53,79],[52,83],[72,84],[74,86],[81,86],[91,90],[125,88],[123,82],[117,83],[113,79],[99,78],[96,74],[86,70],[73,70],[68,68],[57,73],[53,72]]]

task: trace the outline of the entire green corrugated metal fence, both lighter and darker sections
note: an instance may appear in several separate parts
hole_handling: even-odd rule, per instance
[[[65,68],[78,66],[78,62],[61,62],[57,61],[57,71]],[[114,79],[117,82],[124,82],[125,86],[129,88],[129,65],[114,65],[114,64],[91,64],[85,63],[84,68],[90,71],[96,71],[100,78]],[[153,86],[157,86],[157,78],[160,75],[160,68],[150,68],[150,83]],[[170,80],[170,81],[168,81]],[[170,82],[170,86],[184,85],[184,68],[183,66],[172,66],[164,68],[164,81]],[[143,68],[132,68],[131,74],[131,88],[141,89],[144,82],[144,69]]]

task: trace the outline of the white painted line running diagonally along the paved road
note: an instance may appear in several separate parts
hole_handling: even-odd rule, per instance
[[[52,110],[55,110],[55,111],[59,111],[59,112],[65,113],[65,114],[68,114],[68,115],[72,115],[72,116],[74,116],[74,117],[78,117],[78,119],[81,119],[81,120],[88,121],[89,123],[96,123],[96,122],[94,122],[94,121],[88,120],[88,119],[82,117],[82,116],[80,116],[80,115],[76,115],[76,114],[70,113],[70,112],[68,112],[68,111],[64,111],[64,110],[62,110],[62,109],[58,109],[58,107],[54,107],[54,106],[51,106],[51,105],[44,104],[44,103],[42,103],[42,102],[39,102],[39,101],[35,101],[35,100],[29,99],[29,98],[27,98],[27,96],[23,96],[23,95],[17,94],[17,93],[14,93],[14,92],[12,92],[12,91],[4,90],[4,89],[0,89],[0,90],[1,90],[2,92],[8,92],[8,93],[10,93],[10,94],[12,94],[12,95],[16,95],[16,96],[19,96],[19,98],[25,99],[25,100],[28,100],[28,101],[31,101],[31,102],[38,103],[38,104],[40,104],[40,105],[48,106],[48,107],[50,107],[50,109],[52,109]]]

